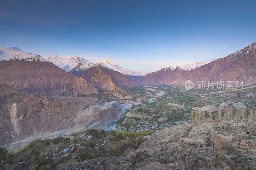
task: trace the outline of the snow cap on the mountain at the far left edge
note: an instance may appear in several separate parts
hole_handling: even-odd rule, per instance
[[[0,47],[0,61],[3,60],[24,60],[28,62],[32,61],[41,61],[41,62],[48,62],[40,55],[28,53],[22,51],[18,47]]]

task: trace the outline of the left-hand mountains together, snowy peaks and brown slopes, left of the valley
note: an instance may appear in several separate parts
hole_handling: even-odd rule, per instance
[[[138,86],[121,72],[142,76],[108,60],[93,64],[79,56],[50,55],[42,58],[17,47],[1,47],[0,60],[0,83],[40,95],[98,93],[95,87],[117,90],[125,86]]]

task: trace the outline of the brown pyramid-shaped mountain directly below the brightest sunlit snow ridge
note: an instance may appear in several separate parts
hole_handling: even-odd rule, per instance
[[[132,79],[126,77],[118,71],[107,69],[100,65],[93,65],[87,70],[71,72],[101,90],[116,90],[122,87],[138,86]]]

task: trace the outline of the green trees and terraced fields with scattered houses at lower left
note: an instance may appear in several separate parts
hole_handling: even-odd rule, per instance
[[[84,139],[80,137],[82,134],[85,134],[85,137],[90,136],[90,138]],[[31,165],[38,165],[36,169],[47,169],[46,166],[50,166],[50,169],[56,169],[59,164],[66,163],[70,159],[84,161],[98,157],[120,156],[126,150],[130,150],[130,148],[138,148],[140,143],[147,140],[143,136],[151,134],[152,132],[109,132],[101,129],[87,129],[86,131],[83,130],[82,132],[68,134],[67,136],[76,135],[76,137],[72,137],[71,139],[57,137],[41,140],[37,138],[29,144],[20,147],[20,154],[17,154],[14,150],[8,152],[7,159],[0,160],[0,168],[7,163],[14,165],[20,161],[25,161],[30,162]],[[114,140],[111,140],[112,137]],[[105,146],[106,143],[108,143],[107,147]],[[114,144],[112,145],[112,143]],[[56,146],[54,146],[55,144]],[[52,150],[47,147],[49,145],[53,145]],[[72,149],[68,152],[60,152],[64,148]],[[56,157],[58,153],[60,155]],[[75,158],[73,156],[74,153],[76,153]],[[54,162],[56,159],[51,159],[53,156],[56,159],[61,159]]]

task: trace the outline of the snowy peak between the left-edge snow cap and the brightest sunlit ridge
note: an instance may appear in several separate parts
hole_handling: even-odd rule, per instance
[[[87,70],[93,65],[93,63],[90,63],[85,58],[80,56],[59,57],[57,55],[49,55],[45,56],[44,59],[52,62],[53,64],[57,65],[58,67],[67,72],[70,72],[74,68]],[[78,63],[81,64],[78,66]]]

